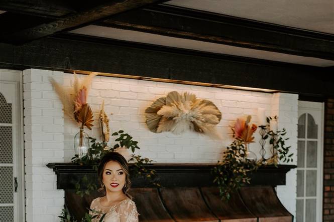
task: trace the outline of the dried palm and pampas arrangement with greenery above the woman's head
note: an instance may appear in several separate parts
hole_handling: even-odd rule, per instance
[[[70,119],[76,121],[80,125],[80,129],[87,127],[91,129],[93,126],[93,113],[89,105],[87,104],[88,90],[93,77],[98,73],[91,73],[86,76],[82,81],[79,80],[77,75],[74,73],[74,83],[72,87],[65,87],[57,83],[53,78],[50,79],[56,93],[59,96],[63,104],[64,114]],[[99,111],[98,121],[100,124],[102,142],[97,142],[95,138],[89,137],[90,146],[87,152],[83,156],[76,154],[72,158],[72,162],[78,163],[80,165],[92,165],[94,170],[97,170],[97,166],[100,159],[107,152],[119,152],[125,156],[126,159],[132,161],[133,167],[131,167],[132,175],[134,176],[146,176],[154,185],[160,186],[156,182],[157,177],[155,175],[155,170],[148,170],[145,165],[152,163],[153,160],[148,158],[142,158],[140,155],[129,154],[129,149],[135,152],[135,149],[140,149],[138,147],[138,142],[133,140],[133,137],[123,130],[113,133],[113,135],[119,135],[115,139],[116,144],[114,148],[109,148],[107,143],[110,138],[110,128],[109,128],[109,118],[104,111],[104,101],[101,104]],[[82,135],[80,130],[80,143],[82,142]],[[80,146],[80,145],[79,145]],[[129,154],[129,158],[127,155]],[[80,196],[85,194],[90,194],[90,191],[97,190],[97,187],[93,181],[89,181],[87,175],[84,175],[80,181],[72,181],[75,183],[76,193]],[[65,219],[65,218],[63,218]]]

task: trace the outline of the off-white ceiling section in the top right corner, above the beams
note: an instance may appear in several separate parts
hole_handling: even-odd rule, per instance
[[[334,34],[334,0],[173,0],[167,4]]]

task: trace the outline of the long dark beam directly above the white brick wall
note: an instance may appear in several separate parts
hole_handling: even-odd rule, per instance
[[[84,70],[308,96],[334,95],[334,80],[326,68],[75,34],[59,34],[22,46],[0,44],[0,68]]]

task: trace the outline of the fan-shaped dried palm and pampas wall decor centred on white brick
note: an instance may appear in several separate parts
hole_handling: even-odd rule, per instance
[[[155,133],[181,134],[190,129],[219,138],[215,126],[221,119],[220,111],[211,101],[198,99],[192,93],[170,92],[153,102],[145,115],[148,128]]]

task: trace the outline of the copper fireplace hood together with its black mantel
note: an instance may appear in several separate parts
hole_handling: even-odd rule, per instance
[[[249,186],[234,193],[229,202],[220,200],[212,184],[213,164],[152,164],[163,188],[153,187],[144,178],[133,178],[130,194],[136,202],[140,221],[221,221],[221,222],[292,222],[293,215],[279,201],[275,186],[285,184],[292,165],[266,166],[252,174]],[[101,193],[81,198],[74,192],[74,181],[87,175],[97,181],[89,166],[49,163],[57,174],[57,188],[65,189],[65,204],[81,218],[91,200]],[[131,166],[130,166],[131,167]]]

